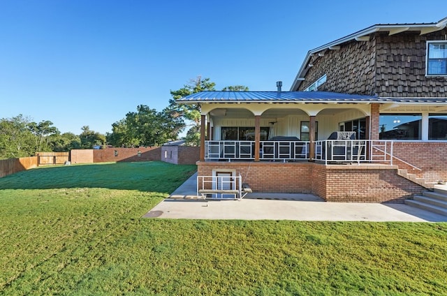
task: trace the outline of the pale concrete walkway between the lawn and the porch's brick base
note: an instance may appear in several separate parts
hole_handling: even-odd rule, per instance
[[[145,218],[240,219],[296,221],[446,222],[441,216],[393,203],[325,202],[310,194],[251,193],[243,200],[202,200],[196,196],[196,177],[151,209]]]

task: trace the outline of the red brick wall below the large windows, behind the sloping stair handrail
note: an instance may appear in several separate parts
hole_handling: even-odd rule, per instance
[[[422,169],[415,170],[393,160],[393,164],[427,182],[447,181],[447,142],[394,142],[393,155]]]

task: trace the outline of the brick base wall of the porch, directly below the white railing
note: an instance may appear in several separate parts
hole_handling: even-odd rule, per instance
[[[330,202],[404,202],[425,190],[390,165],[199,162],[198,175],[235,170],[254,192],[312,193]]]

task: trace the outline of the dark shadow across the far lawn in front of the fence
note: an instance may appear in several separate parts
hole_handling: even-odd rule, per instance
[[[168,194],[196,169],[161,161],[41,167],[0,178],[0,189],[110,188]]]

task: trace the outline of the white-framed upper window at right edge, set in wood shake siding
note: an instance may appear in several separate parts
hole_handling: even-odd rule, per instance
[[[447,41],[427,41],[427,76],[447,75]]]

